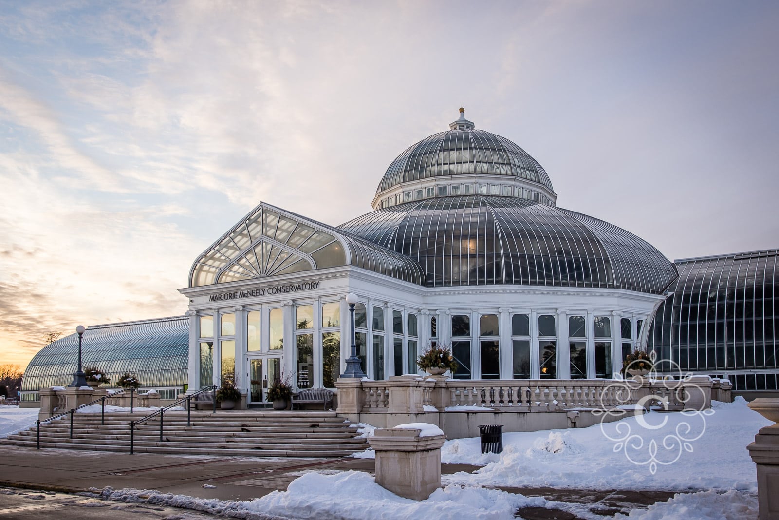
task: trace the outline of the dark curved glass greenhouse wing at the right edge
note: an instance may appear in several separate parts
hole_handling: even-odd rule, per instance
[[[647,347],[682,370],[779,368],[779,249],[676,260]],[[669,370],[671,367],[661,367]],[[755,376],[751,376],[755,390]],[[741,385],[739,385],[741,386]],[[763,385],[763,389],[765,386]]]

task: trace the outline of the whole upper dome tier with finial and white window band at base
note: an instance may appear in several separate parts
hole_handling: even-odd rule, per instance
[[[541,164],[516,143],[460,118],[400,154],[379,182],[373,207],[449,195],[513,196],[554,205]]]

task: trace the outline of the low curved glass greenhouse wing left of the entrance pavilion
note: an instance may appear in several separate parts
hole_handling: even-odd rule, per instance
[[[184,387],[188,345],[187,317],[96,325],[83,334],[82,365],[97,366],[111,381],[129,372],[138,376],[141,387]],[[33,357],[24,371],[21,390],[67,386],[78,362],[79,335],[60,338]]]

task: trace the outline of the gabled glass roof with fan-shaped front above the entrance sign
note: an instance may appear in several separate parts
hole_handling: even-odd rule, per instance
[[[425,285],[419,264],[332,226],[260,203],[192,264],[189,286],[354,265]]]

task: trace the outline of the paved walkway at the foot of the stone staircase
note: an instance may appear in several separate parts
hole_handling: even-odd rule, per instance
[[[0,485],[75,493],[132,487],[220,500],[251,500],[286,490],[306,470],[373,472],[370,458],[250,458],[36,450],[0,446]],[[478,466],[444,464],[442,472]],[[203,485],[216,486],[204,488]]]

